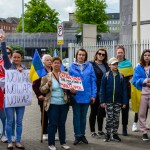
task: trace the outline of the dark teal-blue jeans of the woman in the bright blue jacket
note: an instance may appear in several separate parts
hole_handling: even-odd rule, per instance
[[[73,108],[73,126],[75,137],[81,137],[85,135],[86,129],[86,116],[89,104],[75,103]]]

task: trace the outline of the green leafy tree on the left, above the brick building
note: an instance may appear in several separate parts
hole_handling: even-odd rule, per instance
[[[59,22],[59,13],[51,9],[45,0],[30,0],[25,4],[24,31],[35,32],[56,32]],[[22,31],[22,17],[17,26],[17,32]]]

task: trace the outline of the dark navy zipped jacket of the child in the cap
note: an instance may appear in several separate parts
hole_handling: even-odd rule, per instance
[[[119,72],[113,76],[112,71],[108,76],[106,73],[102,77],[100,88],[100,103],[120,103],[127,104],[127,86],[124,76],[120,76]]]

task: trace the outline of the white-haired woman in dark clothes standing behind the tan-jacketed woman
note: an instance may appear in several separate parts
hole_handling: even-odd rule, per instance
[[[46,69],[47,72],[51,72],[52,71],[52,57],[49,54],[44,54],[42,57],[42,62],[44,64],[44,67]],[[38,104],[40,105],[40,110],[41,110],[41,125],[42,125],[42,113],[43,113],[43,101],[45,99],[45,94],[41,93],[39,87],[41,85],[41,78],[34,81],[32,88],[36,94],[36,97],[38,99]],[[47,128],[48,128],[48,116],[47,116],[47,112],[44,112],[44,126],[43,126],[43,140],[47,140],[48,139],[48,132],[47,132]]]

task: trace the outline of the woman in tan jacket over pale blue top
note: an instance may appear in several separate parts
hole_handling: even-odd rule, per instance
[[[61,147],[64,149],[70,149],[66,144],[66,131],[65,123],[67,119],[67,113],[69,106],[64,101],[64,91],[59,86],[59,74],[61,72],[60,66],[62,61],[59,57],[52,58],[53,71],[48,73],[41,80],[40,90],[42,93],[46,93],[44,101],[45,110],[48,114],[48,148],[50,150],[56,150],[55,147],[55,133],[58,129],[59,140]],[[75,90],[72,89],[73,92]]]

